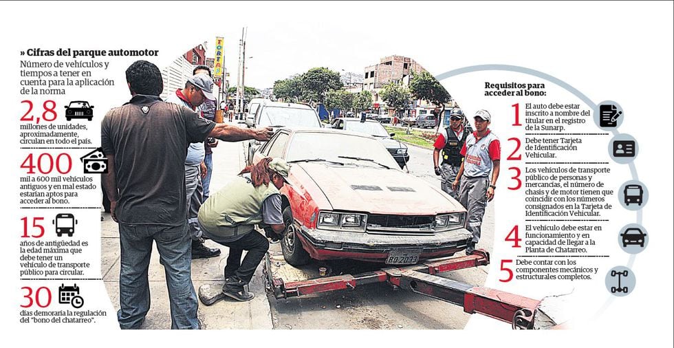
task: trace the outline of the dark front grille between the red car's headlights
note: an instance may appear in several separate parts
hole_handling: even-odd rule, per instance
[[[377,215],[367,217],[367,232],[381,235],[433,235],[434,215]]]

